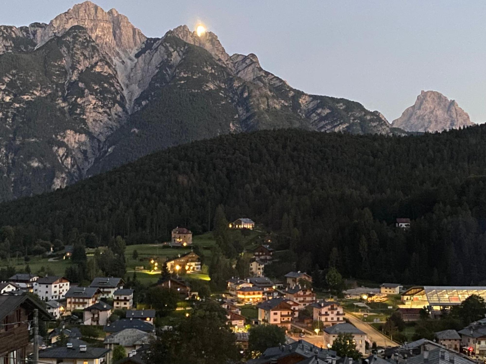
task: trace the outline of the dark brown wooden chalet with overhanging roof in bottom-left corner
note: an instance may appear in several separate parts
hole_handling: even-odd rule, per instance
[[[27,295],[0,296],[0,363],[26,362],[29,329],[38,310],[39,320],[53,317]]]

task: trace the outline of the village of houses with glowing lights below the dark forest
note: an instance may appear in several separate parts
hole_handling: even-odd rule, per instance
[[[46,363],[143,364],[158,335],[170,335],[181,321],[212,305],[209,310],[219,311],[233,335],[239,361],[251,364],[484,361],[486,287],[404,287],[386,282],[364,287],[344,280],[332,267],[327,272],[291,270],[277,276],[273,266],[282,263],[285,253],[276,248],[278,237],[251,219],[228,223],[224,217],[218,222],[217,216],[212,232],[216,241],[221,234],[252,236],[252,244],[234,263],[218,255],[217,247],[211,248],[209,263],[208,251],[194,243],[198,237],[176,227],[160,251],[190,251],[168,257],[133,250],[134,269],[120,277],[69,279],[76,256],[88,250],[75,245],[57,253],[59,259],[72,262],[67,275],[15,272],[3,279],[0,357],[32,357],[38,348],[39,360]],[[407,220],[397,219],[397,229],[410,229]],[[115,246],[104,254],[112,249]],[[218,268],[229,264],[231,273],[244,275],[225,279],[229,272],[215,271],[215,260]],[[203,270],[210,281],[194,279],[203,276]],[[143,285],[140,274],[156,281]],[[276,347],[256,350],[258,335],[270,334],[257,329],[275,329],[284,339]]]

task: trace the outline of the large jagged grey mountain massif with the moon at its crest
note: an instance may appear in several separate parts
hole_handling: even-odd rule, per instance
[[[89,1],[49,24],[0,26],[0,54],[0,200],[222,133],[391,133],[357,102],[305,94],[263,70],[255,54],[228,55],[211,32],[180,26],[147,38]],[[55,56],[29,69],[39,54]]]

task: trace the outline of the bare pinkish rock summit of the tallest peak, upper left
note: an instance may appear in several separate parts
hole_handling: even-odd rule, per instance
[[[52,19],[42,33],[39,46],[53,36],[62,35],[75,25],[84,27],[100,48],[114,57],[120,56],[121,53],[131,53],[147,39],[127,17],[115,9],[105,12],[91,1],[85,1],[75,4],[65,13]]]

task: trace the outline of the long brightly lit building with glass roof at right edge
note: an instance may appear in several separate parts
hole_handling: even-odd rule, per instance
[[[406,308],[431,306],[435,310],[441,307],[460,305],[471,295],[486,299],[486,287],[474,286],[421,286],[407,289],[401,294],[401,301]]]

